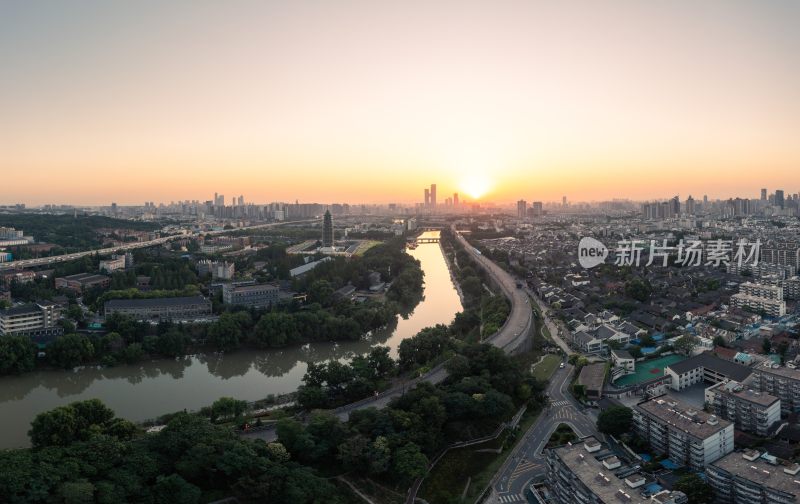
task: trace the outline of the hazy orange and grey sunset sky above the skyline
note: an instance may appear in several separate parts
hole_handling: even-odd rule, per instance
[[[795,193],[798,25],[788,0],[0,0],[0,204]]]

